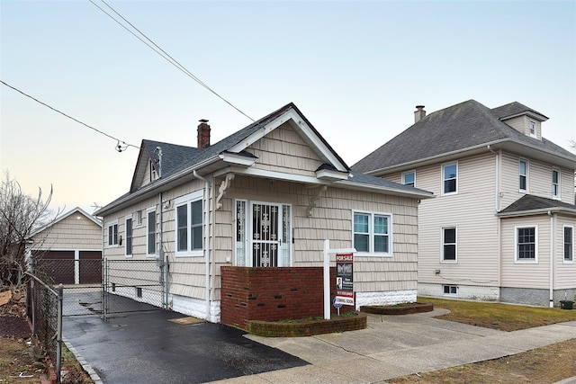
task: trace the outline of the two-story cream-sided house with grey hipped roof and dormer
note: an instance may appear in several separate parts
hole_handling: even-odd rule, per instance
[[[521,103],[430,113],[352,166],[434,192],[419,209],[419,294],[554,306],[576,297],[576,155]],[[568,139],[568,138],[567,138]]]

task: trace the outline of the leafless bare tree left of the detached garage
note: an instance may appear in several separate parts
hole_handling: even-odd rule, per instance
[[[51,199],[51,185],[49,195],[42,200],[40,187],[38,196],[32,197],[5,172],[0,185],[0,289],[21,284],[26,242],[35,229],[48,222]]]

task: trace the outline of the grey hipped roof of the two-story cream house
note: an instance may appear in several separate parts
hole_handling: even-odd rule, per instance
[[[527,111],[540,116],[541,121],[547,119],[516,102],[491,110],[475,100],[468,100],[430,113],[352,168],[377,174],[408,168],[423,161],[438,161],[442,157],[456,156],[474,149],[483,150],[489,145],[493,148],[508,146],[515,151],[532,151],[563,162],[563,165],[576,167],[576,155],[563,147],[545,138],[530,138],[500,121]]]

